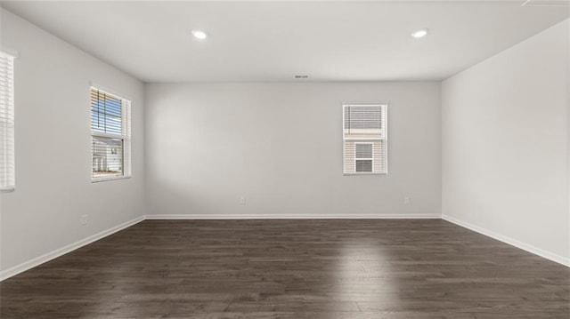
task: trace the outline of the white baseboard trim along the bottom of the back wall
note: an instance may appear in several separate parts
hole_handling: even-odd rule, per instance
[[[145,219],[441,219],[440,214],[165,214],[146,215]]]

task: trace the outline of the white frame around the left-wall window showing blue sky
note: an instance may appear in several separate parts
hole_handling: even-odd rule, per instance
[[[105,94],[112,95],[121,100],[121,133],[114,134],[114,133],[106,133],[106,132],[94,132],[93,130],[93,111],[92,111],[92,102],[91,102],[91,94],[96,90],[99,92],[103,92]],[[99,84],[91,84],[89,87],[89,130],[91,132],[91,182],[98,183],[102,181],[108,180],[117,180],[117,179],[130,179],[132,177],[132,159],[131,159],[131,108],[132,108],[132,100],[127,98],[123,94],[118,94],[114,91],[110,91],[106,89],[104,86]],[[103,139],[114,139],[114,140],[121,140],[121,149],[122,149],[122,156],[121,156],[121,167],[122,167],[122,174],[120,175],[107,175],[102,177],[94,177],[94,151],[93,151],[93,143],[94,137],[99,137]]]

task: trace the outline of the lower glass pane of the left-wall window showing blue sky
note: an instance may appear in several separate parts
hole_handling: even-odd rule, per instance
[[[123,175],[123,140],[94,136],[93,178]]]

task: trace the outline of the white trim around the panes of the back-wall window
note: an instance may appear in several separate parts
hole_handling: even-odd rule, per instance
[[[388,121],[387,121],[387,117],[388,117],[388,104],[389,102],[387,101],[381,101],[379,103],[375,103],[375,104],[343,104],[342,105],[342,165],[343,165],[343,175],[344,176],[354,176],[354,175],[387,175],[388,171],[389,171],[389,152],[388,152]],[[345,136],[345,108],[346,107],[380,107],[382,108],[382,113],[385,115],[384,118],[384,129],[382,130],[382,135],[379,138],[347,138]],[[355,172],[356,170],[354,169],[354,172],[346,172],[345,171],[345,141],[346,140],[382,140],[384,143],[384,166],[386,167],[385,171],[373,171],[374,169],[372,169],[372,172]],[[354,142],[354,144],[356,144],[358,142]],[[372,157],[374,156],[374,146],[372,145]],[[354,165],[356,165],[356,159],[354,157]],[[374,167],[374,159],[372,158],[372,167]]]

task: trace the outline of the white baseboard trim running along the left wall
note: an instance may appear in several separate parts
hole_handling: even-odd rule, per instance
[[[97,233],[95,235],[90,235],[89,237],[86,237],[82,240],[79,240],[75,243],[70,243],[69,245],[62,247],[60,249],[57,249],[55,251],[50,251],[42,256],[39,256],[35,259],[29,259],[28,261],[22,262],[20,265],[16,265],[14,267],[10,267],[6,270],[2,270],[0,271],[0,282],[2,282],[4,279],[10,278],[13,275],[18,275],[30,268],[33,267],[37,267],[47,261],[50,261],[52,259],[56,259],[58,257],[60,257],[61,255],[65,255],[66,253],[70,252],[70,251],[75,251],[77,248],[83,247],[86,244],[89,243],[93,243],[95,241],[98,241],[100,239],[102,239],[103,237],[106,237],[108,235],[112,235],[114,233],[117,233],[119,230],[123,230],[126,227],[131,227],[134,224],[137,224],[139,222],[141,222],[142,220],[144,220],[144,216],[141,217],[137,217],[135,219],[126,221],[118,226],[115,227],[111,227],[107,230],[103,230],[100,233]]]

